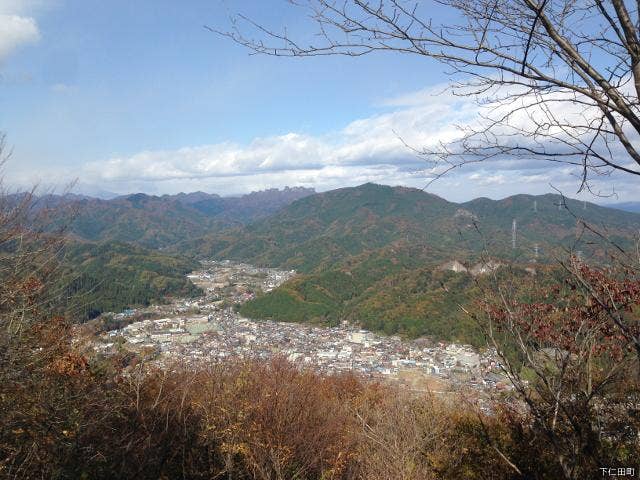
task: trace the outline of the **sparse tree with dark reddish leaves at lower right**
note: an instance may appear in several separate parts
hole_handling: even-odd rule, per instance
[[[640,283],[621,266],[575,257],[562,266],[561,281],[532,281],[524,292],[496,282],[473,315],[513,386],[504,418],[516,443],[578,479],[640,460]],[[513,458],[522,473],[532,456]]]

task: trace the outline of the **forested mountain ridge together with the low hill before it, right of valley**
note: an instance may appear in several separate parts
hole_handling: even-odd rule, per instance
[[[585,208],[559,195],[454,204],[420,190],[366,184],[305,198],[270,218],[181,246],[303,273],[243,305],[249,317],[347,319],[387,333],[476,343],[479,332],[458,304],[473,297],[477,279],[442,271],[442,264],[459,260],[471,267],[489,255],[520,264],[517,275],[526,278],[525,266],[551,263],[562,249],[605,259],[602,243],[583,222],[632,246],[640,215]]]

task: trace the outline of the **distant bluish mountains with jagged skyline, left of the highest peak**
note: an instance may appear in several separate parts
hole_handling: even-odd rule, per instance
[[[39,203],[52,209],[49,228],[66,226],[78,239],[166,248],[185,238],[262,218],[311,193],[305,188],[285,188],[238,198],[203,192],[161,197],[138,193],[112,200],[47,196]]]

